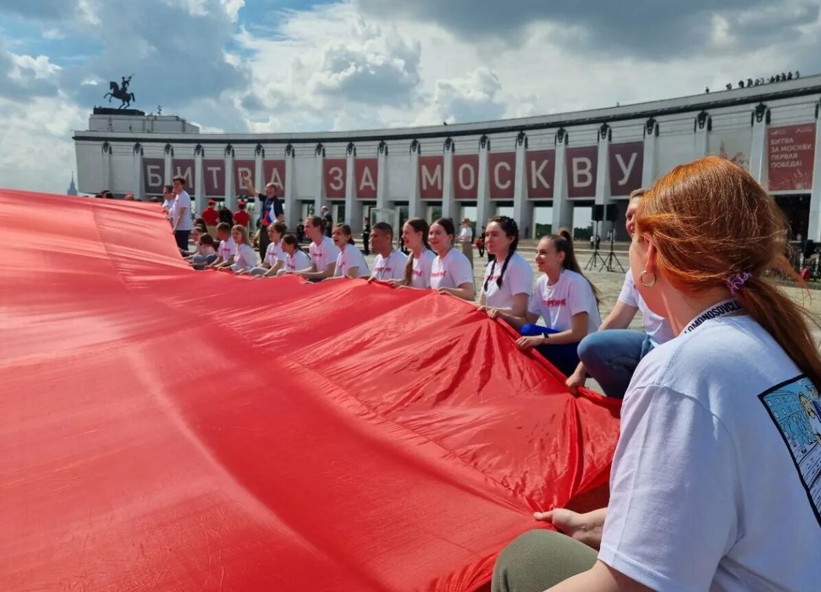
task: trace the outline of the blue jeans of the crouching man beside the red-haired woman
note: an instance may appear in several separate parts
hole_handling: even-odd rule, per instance
[[[653,348],[653,342],[641,331],[606,329],[581,340],[579,358],[605,395],[621,399],[635,367]]]

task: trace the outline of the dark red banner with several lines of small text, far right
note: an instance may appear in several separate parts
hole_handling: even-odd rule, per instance
[[[811,190],[815,124],[771,127],[767,131],[767,143],[769,190]]]

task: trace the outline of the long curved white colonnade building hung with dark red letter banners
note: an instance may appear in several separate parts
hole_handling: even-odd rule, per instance
[[[144,200],[181,174],[197,212],[212,198],[236,209],[246,178],[258,190],[273,182],[289,227],[328,205],[355,232],[373,207],[480,224],[506,214],[529,237],[586,225],[595,210],[611,219],[603,231],[612,224],[624,238],[631,190],[718,154],[768,189],[794,237],[821,241],[819,99],[821,76],[810,76],[540,117],[277,134],[205,134],[180,117],[109,112],[75,132],[77,181],[85,193]]]

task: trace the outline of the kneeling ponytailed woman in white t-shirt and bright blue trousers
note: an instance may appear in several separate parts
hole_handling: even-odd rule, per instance
[[[517,346],[535,347],[567,376],[579,365],[579,342],[601,324],[598,292],[581,273],[566,230],[539,241],[536,265],[544,275],[536,282],[525,316],[502,310],[497,314],[521,333]],[[488,311],[488,316],[496,315]],[[535,324],[540,316],[547,326]]]

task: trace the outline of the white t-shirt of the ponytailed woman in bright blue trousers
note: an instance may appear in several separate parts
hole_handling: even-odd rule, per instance
[[[562,269],[558,282],[548,286],[548,276],[543,274],[536,281],[536,289],[527,307],[531,314],[539,314],[548,328],[569,331],[573,328],[573,316],[587,313],[587,332],[595,333],[602,324],[599,305],[593,288],[585,276],[570,269]]]

